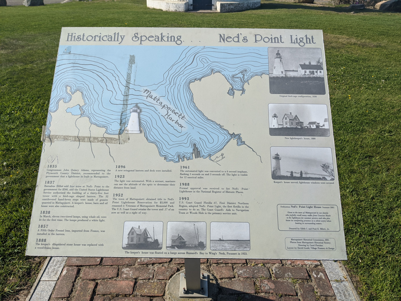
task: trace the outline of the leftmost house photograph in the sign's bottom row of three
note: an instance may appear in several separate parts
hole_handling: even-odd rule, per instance
[[[163,242],[163,222],[124,222],[124,250],[160,250]]]

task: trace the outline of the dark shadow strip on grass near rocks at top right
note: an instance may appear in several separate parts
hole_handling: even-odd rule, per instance
[[[309,6],[309,5],[303,5],[302,3],[291,3],[291,2],[281,2],[277,3],[273,0],[262,0],[260,7],[255,8],[254,10],[267,10],[267,9],[306,9],[306,10],[320,10],[320,11],[332,11],[332,12],[343,12],[343,13],[350,13],[354,12],[355,14],[360,13],[360,12],[381,12],[381,13],[389,13],[390,11],[384,11],[384,10],[377,10],[377,9],[372,9],[372,8],[365,8],[361,10],[354,10],[351,8],[348,8],[348,6]],[[396,12],[393,12],[396,13]]]

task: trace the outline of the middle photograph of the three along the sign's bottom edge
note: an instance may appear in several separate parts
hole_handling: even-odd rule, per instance
[[[168,250],[205,250],[206,222],[168,222]]]

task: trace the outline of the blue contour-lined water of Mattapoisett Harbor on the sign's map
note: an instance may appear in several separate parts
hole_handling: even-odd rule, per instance
[[[245,144],[240,133],[230,133],[196,107],[190,83],[221,73],[231,85],[227,93],[234,96],[245,93],[244,85],[252,77],[269,73],[267,47],[72,46],[71,53],[63,50],[60,47],[57,57],[46,135],[51,132],[51,113],[60,101],[70,102],[70,87],[72,94],[82,93],[85,104],[79,114],[107,134],[122,134],[130,109],[138,106],[146,139],[172,162],[192,159],[194,144],[205,159],[230,140]],[[157,53],[163,55],[155,57]],[[131,72],[130,55],[135,55]],[[131,73],[130,83],[127,73]],[[67,110],[78,113],[75,107]]]

